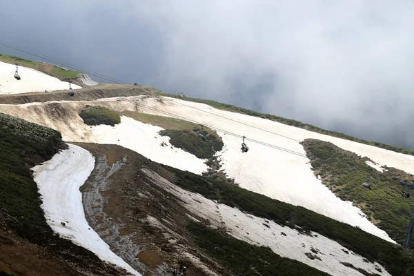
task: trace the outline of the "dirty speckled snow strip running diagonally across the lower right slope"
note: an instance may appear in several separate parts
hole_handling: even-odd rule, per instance
[[[181,199],[182,201],[180,202],[191,213],[203,219],[208,219],[211,223],[210,227],[224,227],[228,234],[244,242],[255,244],[256,246],[268,246],[277,255],[296,259],[299,262],[313,266],[334,276],[361,275],[357,270],[348,268],[340,264],[340,262],[351,263],[357,268],[366,270],[368,273],[390,275],[380,264],[376,262],[364,262],[362,256],[353,253],[351,250],[344,248],[337,242],[323,235],[314,232],[311,236],[302,235],[297,230],[293,230],[287,226],[280,226],[274,221],[248,215],[237,208],[231,208],[224,204],[216,204],[199,194],[181,189],[157,175],[156,172],[152,172],[146,168],[142,168],[141,170],[153,179],[154,184],[161,186],[165,190],[168,190],[169,193]],[[188,216],[191,217],[190,215]],[[311,251],[312,249],[319,252],[313,253]],[[321,260],[309,259],[305,253],[317,255]],[[375,268],[379,268],[382,272]]]

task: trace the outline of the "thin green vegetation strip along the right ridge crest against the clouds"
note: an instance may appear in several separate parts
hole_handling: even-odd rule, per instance
[[[161,91],[159,91],[159,92],[162,93],[163,95],[166,95],[167,97],[182,99],[182,97],[180,95],[169,94],[169,93],[165,93],[165,92],[161,92]],[[208,104],[209,106],[213,106],[214,108],[218,108],[218,109],[221,109],[221,110],[228,110],[228,111],[242,113],[242,114],[253,116],[253,117],[259,117],[259,118],[262,118],[262,119],[269,119],[271,121],[277,121],[279,123],[286,124],[286,125],[289,125],[289,126],[295,126],[297,128],[304,128],[306,130],[321,133],[321,134],[324,134],[324,135],[330,135],[330,136],[333,136],[333,137],[339,137],[339,138],[350,140],[350,141],[356,141],[358,143],[371,145],[371,146],[376,146],[378,148],[384,148],[386,150],[392,150],[392,151],[395,151],[395,152],[404,153],[406,155],[414,155],[414,150],[406,150],[405,148],[400,148],[400,147],[397,147],[397,146],[391,146],[391,145],[388,145],[388,144],[383,144],[383,143],[379,143],[379,142],[375,142],[375,141],[366,141],[364,139],[358,139],[358,138],[355,138],[355,137],[352,137],[350,135],[346,135],[346,134],[343,134],[343,133],[339,133],[339,132],[335,132],[335,131],[331,131],[331,130],[324,130],[323,128],[318,128],[317,126],[313,126],[313,125],[310,125],[310,124],[304,124],[301,121],[296,121],[296,120],[293,120],[293,119],[287,119],[287,118],[279,117],[279,116],[276,116],[276,115],[264,114],[264,113],[260,113],[260,112],[254,111],[254,110],[249,110],[249,109],[246,109],[246,108],[239,108],[238,106],[233,106],[232,104],[219,103],[218,101],[212,101],[212,100],[208,100],[208,99],[197,99],[197,98],[191,98],[191,97],[186,97],[185,99],[186,99],[186,101],[193,101],[193,102],[197,102],[197,103],[205,103],[205,104]]]

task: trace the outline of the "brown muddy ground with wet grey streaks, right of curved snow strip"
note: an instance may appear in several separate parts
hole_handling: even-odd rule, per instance
[[[170,275],[180,264],[188,267],[188,276],[222,271],[194,246],[185,228],[188,210],[180,199],[152,184],[140,168],[170,181],[172,172],[120,146],[73,144],[96,159],[81,187],[86,219],[119,257],[145,276]]]

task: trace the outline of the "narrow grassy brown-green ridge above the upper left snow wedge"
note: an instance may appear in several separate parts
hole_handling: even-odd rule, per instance
[[[0,54],[0,61],[10,63],[10,64],[17,64],[19,66],[33,68],[34,70],[38,70],[40,72],[44,72],[52,77],[57,77],[60,80],[63,79],[77,79],[80,72],[75,70],[69,70],[66,68],[62,68],[59,66],[55,66],[49,63],[43,63],[40,61],[31,61],[29,59],[23,59],[21,57],[14,57],[9,55]]]

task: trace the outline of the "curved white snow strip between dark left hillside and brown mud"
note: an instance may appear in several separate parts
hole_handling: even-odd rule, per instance
[[[87,248],[103,261],[140,276],[110,250],[108,244],[103,242],[86,221],[79,188],[88,179],[94,166],[95,159],[88,150],[69,144],[67,150],[62,150],[52,159],[32,168],[46,221],[61,237]]]

